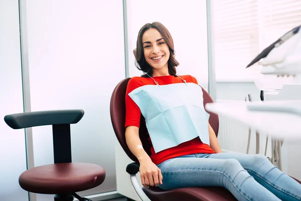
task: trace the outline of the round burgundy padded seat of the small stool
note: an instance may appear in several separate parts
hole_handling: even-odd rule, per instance
[[[105,179],[105,170],[90,163],[56,163],[33,167],[19,177],[27,191],[43,194],[65,194],[91,189]]]

